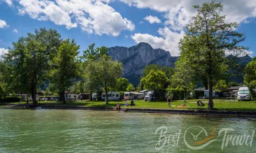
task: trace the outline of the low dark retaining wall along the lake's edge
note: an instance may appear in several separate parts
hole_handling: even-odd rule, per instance
[[[72,110],[105,110],[105,111],[113,111],[113,109],[114,109],[111,107],[100,108],[100,107],[84,107],[84,106],[50,106],[50,105],[43,105],[40,108],[42,108],[42,109],[72,109]],[[256,111],[188,110],[188,109],[158,109],[158,108],[122,108],[121,111],[256,118]]]

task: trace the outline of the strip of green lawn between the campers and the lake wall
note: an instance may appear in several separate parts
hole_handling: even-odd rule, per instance
[[[178,107],[183,104],[183,100],[174,100],[172,102],[172,107],[167,106],[167,102],[145,102],[144,100],[135,100],[136,106],[124,106],[125,102],[122,101],[121,107],[122,108],[168,108],[168,109],[207,109],[208,108],[208,100],[201,100],[206,104],[204,107],[198,107],[197,101],[198,99],[194,100],[186,100],[186,107]],[[128,100],[130,104],[130,100]],[[26,102],[22,102],[24,104]],[[105,102],[95,102],[95,101],[76,101],[70,102],[68,101],[66,104],[62,102],[56,101],[44,101],[40,103],[47,103],[50,105],[65,105],[65,106],[87,106],[87,107],[115,107],[117,102],[109,102],[108,105]],[[16,103],[13,103],[16,104]],[[227,101],[224,99],[214,99],[214,109],[216,110],[254,110],[256,111],[256,102],[254,101]]]

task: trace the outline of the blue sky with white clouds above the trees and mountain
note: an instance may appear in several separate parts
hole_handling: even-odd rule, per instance
[[[209,1],[209,0],[206,0]],[[0,56],[12,42],[40,27],[74,38],[80,52],[88,45],[130,47],[139,42],[179,56],[178,42],[205,0],[0,0]],[[209,1],[210,2],[210,1]],[[219,0],[216,0],[219,2]],[[222,0],[226,22],[245,33],[241,43],[256,56],[256,0]]]

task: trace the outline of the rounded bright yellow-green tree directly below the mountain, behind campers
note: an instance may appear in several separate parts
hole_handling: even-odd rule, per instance
[[[152,69],[146,77],[142,77],[140,82],[149,90],[154,90],[159,100],[160,93],[167,88],[169,80],[163,71]]]

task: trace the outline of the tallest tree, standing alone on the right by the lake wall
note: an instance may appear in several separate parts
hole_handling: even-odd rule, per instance
[[[202,6],[194,8],[197,15],[193,22],[186,25],[187,33],[180,40],[180,59],[176,63],[185,67],[176,69],[179,78],[191,78],[192,80],[204,76],[208,80],[209,102],[208,108],[213,108],[212,88],[213,83],[218,81],[226,70],[225,51],[240,55],[245,47],[239,45],[244,41],[243,33],[234,31],[238,27],[236,23],[226,23],[225,16],[220,12],[223,6],[212,1],[204,2]],[[187,79],[189,80],[189,79]]]

